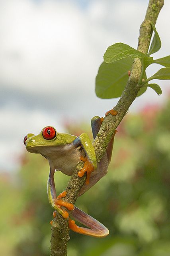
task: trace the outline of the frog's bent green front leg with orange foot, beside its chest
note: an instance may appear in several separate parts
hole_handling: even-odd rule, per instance
[[[87,172],[86,184],[89,184],[90,174],[97,168],[96,154],[92,146],[92,142],[86,133],[81,134],[73,141],[74,146],[81,145],[84,149],[86,157],[81,156],[80,160],[84,161],[82,170],[78,172],[78,176],[82,177]]]

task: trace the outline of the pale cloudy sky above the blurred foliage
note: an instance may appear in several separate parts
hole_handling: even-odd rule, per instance
[[[137,47],[148,2],[0,0],[0,170],[17,167],[28,132],[37,134],[47,125],[62,132],[64,119],[90,123],[116,104],[117,99],[102,100],[94,93],[98,67],[109,45]],[[164,2],[156,24],[162,48],[155,58],[170,54],[170,1]],[[159,84],[162,96],[148,89],[130,111],[162,104],[169,82]]]

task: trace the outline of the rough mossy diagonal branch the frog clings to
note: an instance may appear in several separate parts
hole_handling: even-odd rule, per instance
[[[150,44],[150,39],[152,36],[152,26],[156,23],[158,14],[164,5],[163,0],[150,0],[149,6],[147,8],[147,13],[145,20],[140,27],[140,35],[138,40],[137,50],[147,54]],[[114,107],[117,110],[118,114],[116,116],[107,115],[102,122],[102,126],[96,136],[96,139],[93,142],[93,146],[96,152],[96,159],[99,162],[104,152],[106,151],[107,145],[113,136],[113,133],[125,114],[127,113],[132,102],[137,97],[137,93],[140,90],[140,86],[137,85],[141,75],[141,62],[139,59],[135,59],[131,69],[131,75],[125,86],[121,98],[119,99],[117,105]],[[83,167],[83,163],[80,162],[74,170],[74,173],[68,182],[66,187],[67,195],[65,200],[75,204],[80,189],[84,185],[86,180],[86,175],[84,177],[78,177],[78,170]],[[69,212],[70,214],[70,212]],[[57,216],[54,219],[52,226],[51,234],[51,256],[66,256],[66,246],[69,239],[69,230],[68,230],[68,219],[64,219],[60,214],[57,213]]]

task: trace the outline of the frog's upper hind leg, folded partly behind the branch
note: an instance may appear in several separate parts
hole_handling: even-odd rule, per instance
[[[100,126],[101,126],[102,122],[103,122],[103,118],[100,118],[99,116],[94,116],[92,118],[91,126],[92,126],[92,133],[93,133],[94,139],[96,138],[96,136],[100,130]],[[103,176],[105,176],[107,174],[107,169],[108,169],[109,162],[111,160],[111,154],[112,154],[112,149],[113,149],[114,135],[115,134],[113,134],[113,137],[111,138],[111,140],[107,146],[106,152],[104,153],[104,155],[102,156],[102,159],[100,160],[100,163],[98,164],[98,173],[96,175],[90,177],[90,182],[88,185],[84,184],[82,186],[79,196],[84,194],[89,188],[94,186],[94,184],[96,184]]]

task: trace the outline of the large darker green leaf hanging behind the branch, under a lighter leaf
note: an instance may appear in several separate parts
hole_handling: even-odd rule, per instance
[[[127,72],[131,70],[132,64],[133,59],[130,57],[109,64],[103,62],[96,76],[96,95],[102,99],[120,97],[127,84],[129,78]],[[146,74],[144,78],[147,79]],[[141,88],[137,96],[146,90],[147,87]]]

